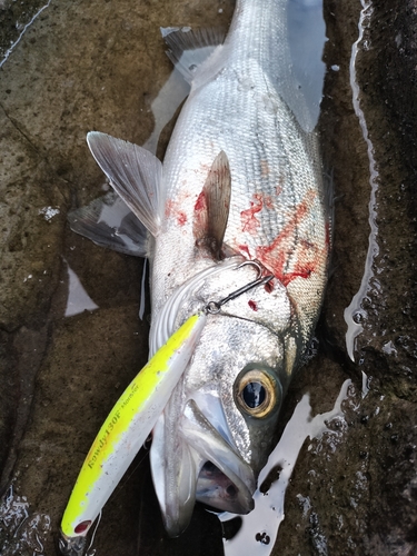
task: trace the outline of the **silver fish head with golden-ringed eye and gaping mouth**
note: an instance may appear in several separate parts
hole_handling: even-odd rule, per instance
[[[254,278],[252,269],[206,279],[179,311],[201,306]],[[216,291],[215,291],[216,290]],[[256,307],[257,310],[254,310]],[[275,284],[209,315],[190,364],[155,430],[153,484],[167,532],[179,535],[195,502],[235,514],[254,508],[260,469],[298,353],[287,291]]]

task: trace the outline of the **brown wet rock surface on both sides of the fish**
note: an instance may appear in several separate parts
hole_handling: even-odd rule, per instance
[[[147,358],[147,320],[138,319],[141,260],[100,249],[66,224],[69,209],[107,189],[86,133],[99,129],[143,145],[155,126],[152,101],[171,72],[159,26],[225,26],[232,4],[52,1],[0,70],[4,555],[56,554],[83,457]],[[335,183],[334,270],[319,353],[291,386],[281,429],[305,391],[318,414],[332,407],[344,380],[351,385],[344,418],[329,424],[334,434],[301,449],[272,550],[280,556],[417,554],[417,6],[381,1],[364,17],[356,79],[365,138],[349,82],[361,9],[354,0],[325,2],[320,132]],[[32,13],[24,4],[23,14],[14,10],[0,2],[4,21]],[[16,40],[9,31],[4,52]],[[344,312],[366,267],[373,185],[377,231],[354,364]],[[68,266],[97,310],[64,317]],[[186,534],[168,539],[143,449],[106,507],[93,547],[98,555],[215,556],[222,554],[221,527],[198,508]]]

